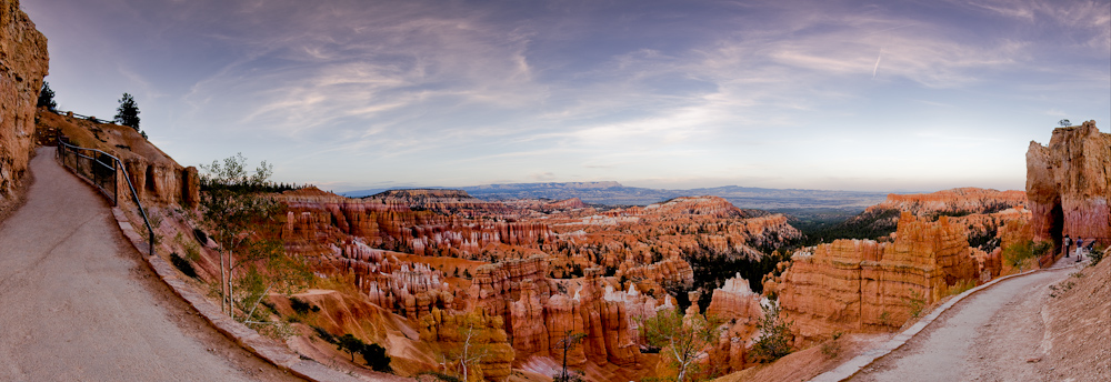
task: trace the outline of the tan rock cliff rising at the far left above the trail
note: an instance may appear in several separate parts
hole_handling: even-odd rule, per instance
[[[47,38],[19,0],[0,0],[0,207],[13,199],[27,172],[48,64]]]

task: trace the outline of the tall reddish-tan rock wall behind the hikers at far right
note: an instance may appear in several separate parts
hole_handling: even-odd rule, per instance
[[[1068,234],[1111,244],[1111,134],[1088,121],[1053,129],[1049,145],[1031,141],[1027,194],[1034,240],[1060,247]]]

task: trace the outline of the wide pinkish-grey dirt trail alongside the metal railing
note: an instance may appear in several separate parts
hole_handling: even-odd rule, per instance
[[[27,203],[0,222],[0,380],[296,380],[173,295],[52,148],[31,171]]]

